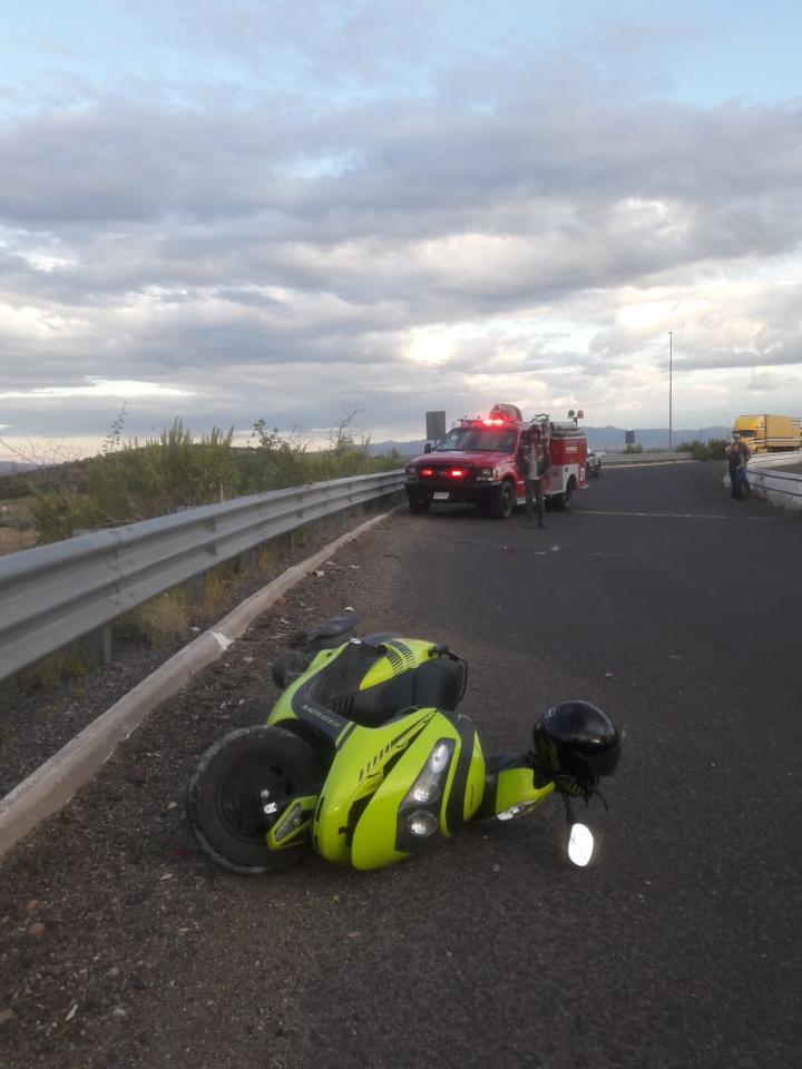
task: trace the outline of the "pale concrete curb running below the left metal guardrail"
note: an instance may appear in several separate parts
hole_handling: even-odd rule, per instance
[[[215,627],[199,635],[137,684],[4,798],[0,798],[0,857],[41,821],[66,805],[108,761],[115,747],[128,738],[159,703],[180,690],[193,676],[217,660],[257,616],[271,608],[278,598],[342,546],[364,534],[393,511],[395,510],[391,509],[372,517],[257,590]]]

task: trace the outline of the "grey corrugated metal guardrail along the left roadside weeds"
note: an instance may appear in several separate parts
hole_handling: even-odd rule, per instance
[[[0,558],[0,679],[215,565],[403,488],[403,471],[235,498]]]

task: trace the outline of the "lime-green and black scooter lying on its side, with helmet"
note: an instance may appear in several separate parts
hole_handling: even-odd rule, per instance
[[[599,776],[615,771],[620,737],[605,713],[561,702],[536,722],[530,751],[486,757],[457,713],[468,679],[461,657],[353,630],[345,611],[284,651],[267,723],[229,732],[200,757],[187,815],[214,861],[260,874],[311,845],[336,864],[380,869],[467,824],[529,813],[555,792],[570,860],[590,861],[593,834],[571,800],[587,804]]]

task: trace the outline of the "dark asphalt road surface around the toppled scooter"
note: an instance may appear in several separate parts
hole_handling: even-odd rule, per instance
[[[163,953],[121,1014],[137,1042],[120,1031],[101,1061],[74,1036],[70,1061],[29,1038],[18,1055],[154,1069],[795,1063],[802,522],[731,500],[721,474],[605,470],[546,531],[520,514],[400,512],[342,558],[359,562],[369,628],[468,658],[464,712],[486,749],[526,748],[535,717],[566,697],[619,723],[610,811],[590,812],[594,866],[564,860],[557,802],[374,874],[312,860],[218,879],[193,857],[158,885],[186,894],[188,918],[180,900],[150,899],[154,924],[188,924],[193,944]],[[80,831],[62,834],[52,883],[69,886],[87,875],[68,862]],[[126,911],[115,918],[108,938],[123,939]]]

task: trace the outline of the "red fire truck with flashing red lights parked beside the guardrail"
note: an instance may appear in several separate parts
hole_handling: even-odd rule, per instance
[[[568,413],[556,423],[548,415],[525,421],[515,404],[495,404],[485,418],[462,419],[433,448],[407,464],[405,490],[411,512],[427,512],[432,502],[472,502],[482,512],[507,519],[525,502],[524,478],[516,455],[521,434],[532,424],[548,435],[551,470],[544,493],[551,508],[570,508],[576,490],[587,488],[587,438],[584,413]]]

